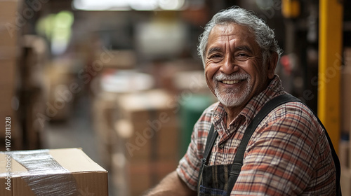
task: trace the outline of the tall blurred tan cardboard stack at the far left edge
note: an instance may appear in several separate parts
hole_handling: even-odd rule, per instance
[[[12,148],[20,148],[20,134],[18,120],[15,116],[15,71],[18,57],[18,13],[20,1],[0,1],[0,119],[5,122],[7,116],[11,117]],[[0,132],[0,139],[5,139],[5,132]],[[4,150],[4,145],[1,145]]]

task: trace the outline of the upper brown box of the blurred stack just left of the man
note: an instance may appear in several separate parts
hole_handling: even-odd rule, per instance
[[[178,158],[179,126],[175,99],[164,90],[148,90],[119,97],[121,119],[117,137],[124,138],[127,160]],[[124,122],[121,125],[121,122]],[[128,125],[128,126],[127,126]],[[129,127],[128,129],[126,127]]]

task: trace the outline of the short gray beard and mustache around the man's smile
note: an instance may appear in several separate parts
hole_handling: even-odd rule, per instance
[[[250,86],[251,77],[249,76],[249,74],[246,74],[246,73],[234,73],[229,76],[219,73],[219,74],[216,74],[216,76],[214,76],[213,79],[216,80],[216,84],[214,88],[215,95],[218,101],[227,107],[240,106],[241,104],[244,103],[247,97],[249,97],[249,94],[252,91],[252,87]],[[240,95],[237,94],[240,92],[239,88],[220,90],[218,87],[218,83],[220,83],[219,80],[224,80],[224,79],[226,80],[246,79],[247,81],[246,81],[246,87],[244,87],[244,92],[241,92]]]

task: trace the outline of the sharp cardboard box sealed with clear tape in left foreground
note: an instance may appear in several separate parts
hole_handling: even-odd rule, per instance
[[[0,195],[108,195],[107,171],[79,148],[11,153],[0,153]]]

